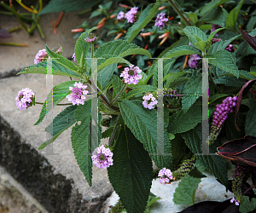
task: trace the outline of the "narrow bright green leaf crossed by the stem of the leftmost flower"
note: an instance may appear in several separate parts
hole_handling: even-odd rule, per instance
[[[69,90],[69,87],[73,87],[73,84],[75,82],[76,81],[67,81],[67,82],[55,85],[55,87],[53,88],[53,94],[54,94],[54,96],[53,96],[53,107],[55,107],[59,102],[61,102],[63,99],[66,98],[66,96],[71,92]],[[48,103],[50,104],[52,93],[50,92],[47,96],[50,97],[50,99],[48,101]],[[44,106],[42,107],[42,110],[40,112],[39,119],[38,119],[37,123],[34,124],[34,125],[40,124],[44,120],[44,117],[45,117],[46,113],[48,113],[48,112],[46,111],[46,100],[45,100],[44,101]]]

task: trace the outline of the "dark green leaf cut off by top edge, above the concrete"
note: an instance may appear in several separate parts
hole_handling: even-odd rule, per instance
[[[57,13],[57,12],[71,12],[79,9],[89,9],[100,2],[99,0],[80,1],[73,0],[51,0],[45,7],[40,11],[38,15]]]

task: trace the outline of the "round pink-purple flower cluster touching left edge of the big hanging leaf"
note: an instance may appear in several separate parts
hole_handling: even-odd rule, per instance
[[[92,153],[92,163],[96,167],[101,169],[107,169],[110,165],[113,165],[113,153],[109,148],[105,148],[104,145],[97,147]]]

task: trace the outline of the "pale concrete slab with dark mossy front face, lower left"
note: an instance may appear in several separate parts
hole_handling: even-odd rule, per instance
[[[55,77],[54,85],[67,80]],[[44,75],[0,79],[1,94],[5,97],[0,100],[0,164],[49,212],[100,212],[102,202],[113,192],[107,170],[93,167],[92,187],[88,185],[73,155],[71,129],[53,143],[57,155],[37,150],[46,141],[45,119],[33,125],[42,106],[25,111],[15,106],[15,96],[26,87],[36,92],[36,101],[44,102]],[[55,107],[54,117],[64,108]]]

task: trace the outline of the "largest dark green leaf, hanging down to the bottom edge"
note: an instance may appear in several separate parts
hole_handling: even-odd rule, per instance
[[[143,144],[125,127],[113,147],[108,179],[128,212],[144,212],[152,184],[152,161]]]

